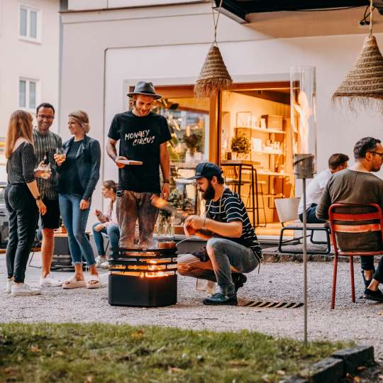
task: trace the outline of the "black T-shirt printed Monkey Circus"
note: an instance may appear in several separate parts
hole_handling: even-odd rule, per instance
[[[138,117],[132,111],[114,116],[108,137],[120,140],[119,155],[143,165],[126,165],[118,170],[118,189],[160,193],[160,145],[171,135],[164,116],[150,112]]]

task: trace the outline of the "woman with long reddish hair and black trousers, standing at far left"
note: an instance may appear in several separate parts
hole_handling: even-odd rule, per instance
[[[40,294],[24,282],[30,248],[35,238],[39,212],[47,211],[35,181],[32,116],[15,111],[6,133],[6,209],[9,213],[9,240],[6,247],[8,280],[6,292],[13,296]],[[37,175],[37,174],[36,174]]]

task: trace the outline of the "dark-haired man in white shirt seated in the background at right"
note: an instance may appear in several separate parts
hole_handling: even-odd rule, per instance
[[[328,159],[328,169],[318,173],[316,177],[309,183],[306,190],[306,216],[307,223],[323,223],[321,219],[316,217],[316,206],[318,206],[321,196],[326,187],[328,180],[331,176],[339,172],[340,170],[347,169],[348,167],[348,155],[342,153],[335,153]],[[303,197],[299,202],[298,214],[299,219],[303,222]]]

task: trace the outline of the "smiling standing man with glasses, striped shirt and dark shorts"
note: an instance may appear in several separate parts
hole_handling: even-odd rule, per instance
[[[43,242],[41,245],[41,287],[61,286],[62,282],[57,281],[50,274],[50,265],[52,263],[55,228],[60,226],[60,209],[57,195],[57,172],[56,162],[53,156],[56,150],[62,149],[62,140],[60,135],[50,131],[53,120],[55,119],[55,108],[51,104],[43,103],[37,107],[36,111],[38,126],[33,129],[33,140],[35,144],[35,156],[37,159],[36,165],[44,160],[45,155],[48,157],[52,174],[50,178],[36,178],[38,189],[45,206],[47,213],[40,216],[43,226]]]

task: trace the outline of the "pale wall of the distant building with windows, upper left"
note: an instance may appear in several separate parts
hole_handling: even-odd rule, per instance
[[[59,0],[0,0],[0,137],[5,137],[9,116],[18,109],[18,79],[37,79],[39,101],[58,106]],[[19,38],[19,4],[40,10],[41,40]],[[52,126],[57,131],[57,122]],[[6,180],[4,159],[0,181]]]

